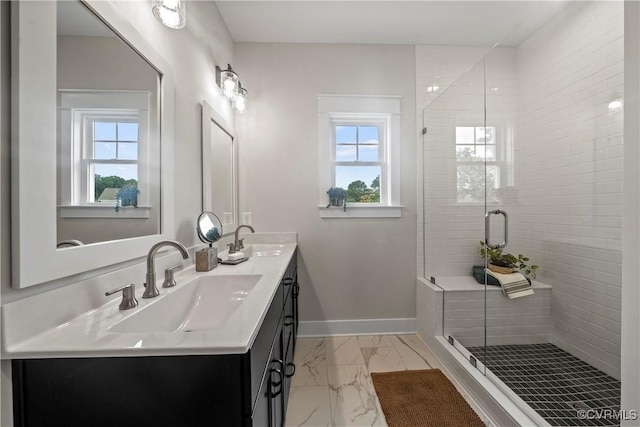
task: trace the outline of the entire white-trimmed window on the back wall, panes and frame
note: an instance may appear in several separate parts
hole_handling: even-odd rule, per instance
[[[400,97],[318,96],[320,216],[400,217]],[[347,211],[327,190],[347,190]]]

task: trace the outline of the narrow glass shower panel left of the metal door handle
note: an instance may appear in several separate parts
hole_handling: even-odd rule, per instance
[[[479,247],[499,178],[496,166],[487,164],[496,150],[495,129],[486,124],[484,68],[483,59],[423,111],[424,275],[441,289],[442,336],[467,358],[467,348],[485,345]]]

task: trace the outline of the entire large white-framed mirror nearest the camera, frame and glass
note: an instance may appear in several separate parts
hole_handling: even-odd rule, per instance
[[[65,10],[66,18],[84,16],[60,25],[57,6],[58,2],[11,5],[12,286],[18,288],[91,277],[105,267],[143,257],[153,244],[173,237],[173,78],[168,64],[110,2],[63,5],[74,7],[72,11]],[[91,22],[93,27],[86,27],[81,21]],[[62,38],[70,44],[61,43]],[[120,74],[120,80],[110,86],[99,86],[99,82],[108,79],[91,75],[97,73],[95,69],[65,68],[69,64],[59,67],[60,60],[77,64],[98,60],[86,56],[96,50],[89,43],[90,38],[117,45],[121,58],[134,61],[114,61],[119,68],[110,74]],[[71,56],[82,51],[84,57]],[[143,77],[130,74],[132,69],[143,70]],[[146,83],[127,86],[140,80]],[[82,116],[87,111],[90,114]],[[100,112],[113,114],[91,122]],[[70,117],[85,127],[74,128],[72,121],[65,121]],[[65,147],[65,126],[72,136],[98,137],[93,141],[79,139],[73,143],[76,145]],[[99,155],[73,157],[70,153],[74,150]],[[114,156],[118,151],[125,154]],[[113,203],[89,206],[101,203],[96,201],[104,192],[96,197],[98,175],[115,176],[117,173],[111,171],[117,166],[131,169],[130,165],[136,162],[138,175],[135,182],[129,182],[130,188],[136,189],[125,192],[120,191],[122,186],[115,190],[117,186],[112,186],[110,191],[114,194],[105,200]],[[72,170],[74,164],[79,165],[77,171]],[[104,172],[104,165],[112,169]],[[75,190],[78,191],[74,193]],[[134,193],[135,200],[131,196]],[[77,200],[81,202],[76,203]],[[64,211],[61,206],[72,212],[63,219],[59,216]],[[83,209],[101,213],[77,213]],[[127,215],[133,218],[123,219]],[[102,236],[81,237],[76,233],[83,228],[80,225],[63,231],[60,223],[78,220],[74,216],[87,223],[86,231],[98,228],[103,231]],[[144,233],[126,232],[141,228],[125,225],[128,221],[145,220],[152,225]],[[83,244],[57,248],[61,241]]]

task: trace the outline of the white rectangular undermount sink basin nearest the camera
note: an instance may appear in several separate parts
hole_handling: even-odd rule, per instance
[[[224,325],[262,275],[199,276],[161,295],[109,328],[109,332],[193,332]]]

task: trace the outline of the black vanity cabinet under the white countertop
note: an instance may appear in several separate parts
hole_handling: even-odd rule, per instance
[[[284,425],[297,336],[296,256],[245,354],[13,360],[14,425]]]

